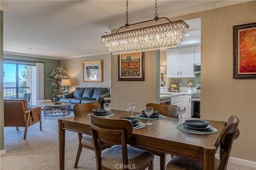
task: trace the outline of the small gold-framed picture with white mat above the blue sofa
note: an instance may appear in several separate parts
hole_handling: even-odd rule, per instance
[[[102,82],[102,60],[83,62],[84,82]]]

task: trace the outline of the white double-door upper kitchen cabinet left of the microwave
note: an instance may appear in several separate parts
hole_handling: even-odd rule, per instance
[[[193,73],[195,47],[167,49],[167,78],[195,78]]]

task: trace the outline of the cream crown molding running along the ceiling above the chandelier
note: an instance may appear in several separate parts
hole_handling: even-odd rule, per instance
[[[216,8],[222,8],[225,6],[231,6],[231,5],[236,5],[236,4],[242,4],[245,2],[250,2],[253,0],[227,0],[224,2],[217,2],[216,4],[210,4],[210,5],[206,5],[206,6],[201,6],[198,8],[192,8],[190,10],[183,10],[183,11],[179,11],[179,12],[173,12],[170,14],[166,14],[166,15],[161,15],[159,17],[166,17],[166,18],[174,18],[174,17],[178,17],[178,16],[184,16],[184,15],[188,15],[188,14],[193,14],[196,12],[202,12],[202,11],[207,11],[207,10],[213,10]],[[142,21],[147,21],[147,20],[152,20],[152,18],[147,18],[147,19],[143,19],[143,20],[137,20],[134,22],[131,22],[130,24],[134,24],[134,23],[140,23]],[[152,21],[154,22],[154,21]],[[110,27],[108,27],[110,30],[114,30],[114,29],[118,29],[120,27],[124,26],[124,24],[119,24],[119,25],[112,25]]]

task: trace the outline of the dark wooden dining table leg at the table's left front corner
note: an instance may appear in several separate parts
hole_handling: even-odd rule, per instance
[[[62,128],[63,123],[59,122],[59,159],[60,170],[65,168],[65,130]]]

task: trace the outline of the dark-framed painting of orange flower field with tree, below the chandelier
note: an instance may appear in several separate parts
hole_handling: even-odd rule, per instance
[[[144,81],[144,52],[118,55],[118,81]]]

